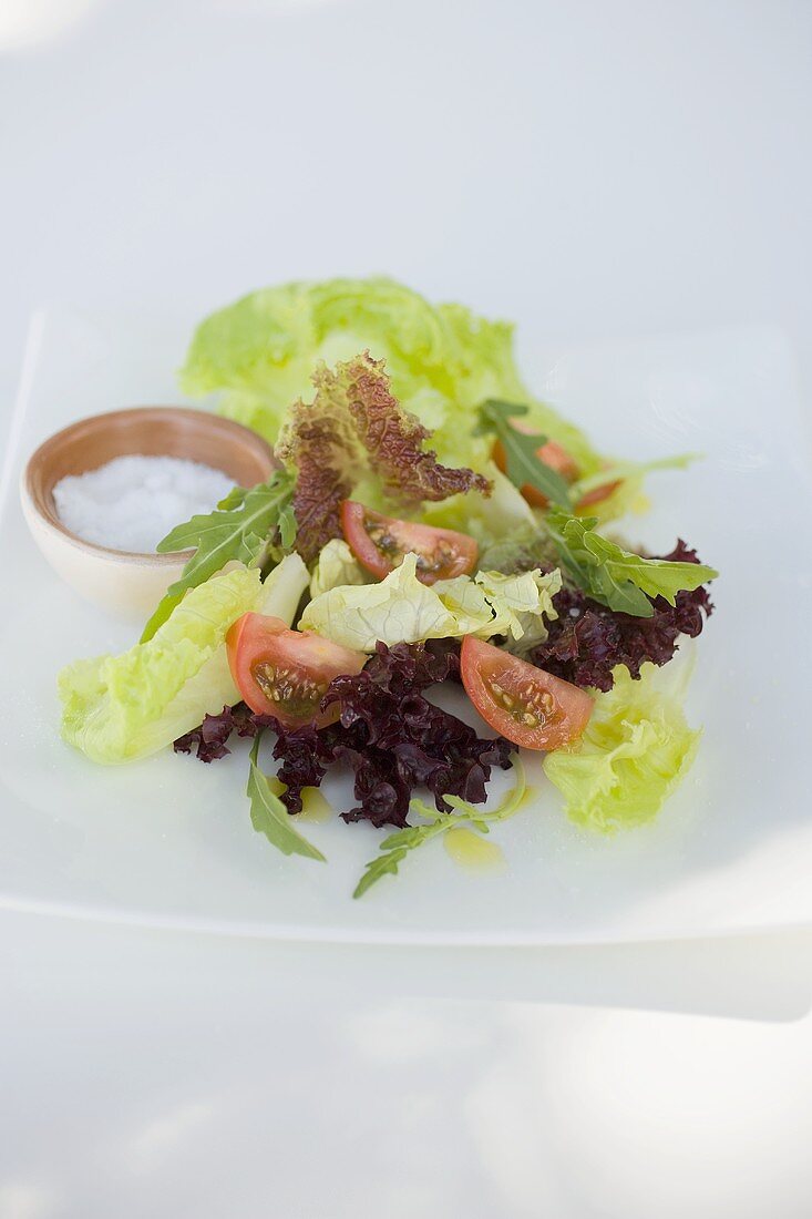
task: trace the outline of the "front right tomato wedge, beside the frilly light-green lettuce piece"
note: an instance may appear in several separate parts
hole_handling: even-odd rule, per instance
[[[525,750],[557,750],[577,740],[593,713],[593,700],[571,681],[466,635],[462,684],[491,728]]]

